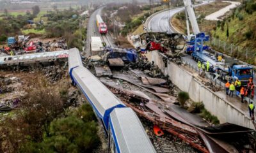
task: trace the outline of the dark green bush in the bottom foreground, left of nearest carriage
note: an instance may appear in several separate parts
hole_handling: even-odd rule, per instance
[[[49,135],[40,143],[27,143],[21,152],[93,152],[100,144],[95,120],[91,106],[83,105],[67,117],[54,119]]]

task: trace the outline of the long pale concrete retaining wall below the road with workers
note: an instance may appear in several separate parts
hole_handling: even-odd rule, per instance
[[[193,101],[202,101],[205,108],[213,115],[216,115],[221,123],[230,122],[255,129],[252,120],[244,112],[229,101],[221,98],[221,93],[213,92],[205,87],[200,80],[182,68],[182,66],[178,66],[172,61],[168,61],[165,64],[163,58],[166,57],[157,51],[147,52],[146,56],[148,61],[154,61],[154,64],[163,71],[164,75],[169,75],[173,84],[179,87],[180,90],[188,92]]]

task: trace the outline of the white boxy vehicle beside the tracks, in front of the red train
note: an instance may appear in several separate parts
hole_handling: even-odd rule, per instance
[[[91,48],[92,55],[104,54],[103,42],[100,39],[100,37],[92,36],[90,48]]]

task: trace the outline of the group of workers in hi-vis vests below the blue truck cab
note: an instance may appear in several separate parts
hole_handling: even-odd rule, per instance
[[[255,88],[252,77],[248,80],[248,84],[245,87],[242,87],[241,81],[237,79],[236,82],[232,82],[231,84],[229,81],[227,81],[227,83],[225,84],[225,88],[226,94],[231,97],[233,97],[234,91],[236,91],[236,96],[241,96],[241,103],[244,103],[244,97],[246,96],[251,96],[251,98],[254,97]],[[255,105],[253,104],[253,102],[249,104],[248,110],[250,113],[250,117],[252,117],[252,119],[254,120]]]

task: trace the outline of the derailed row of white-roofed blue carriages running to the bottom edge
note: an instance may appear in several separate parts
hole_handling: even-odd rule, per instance
[[[77,48],[72,48],[68,54],[72,84],[83,92],[102,123],[108,135],[108,152],[156,152],[136,113],[84,68]]]

